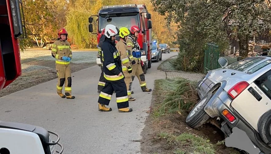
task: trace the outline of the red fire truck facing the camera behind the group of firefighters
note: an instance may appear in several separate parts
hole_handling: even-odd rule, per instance
[[[93,32],[93,17],[97,17],[97,33]],[[89,32],[97,34],[97,40],[101,37],[102,30],[108,24],[115,25],[116,27],[127,27],[136,25],[140,28],[137,42],[141,50],[141,60],[144,62],[143,71],[146,74],[147,69],[151,68],[151,14],[148,12],[146,5],[130,4],[130,5],[113,5],[103,6],[98,15],[92,15],[88,19]],[[117,39],[118,40],[118,39]],[[96,60],[97,64],[100,63],[100,58]]]

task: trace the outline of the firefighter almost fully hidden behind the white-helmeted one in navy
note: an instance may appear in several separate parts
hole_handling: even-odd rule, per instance
[[[104,41],[104,31],[105,29],[103,29],[102,31],[102,36],[100,37],[100,40],[98,42],[98,53],[99,53],[99,56],[100,56],[100,60],[102,62],[102,66],[101,66],[101,76],[100,76],[100,79],[99,79],[99,82],[98,82],[98,93],[101,92],[101,90],[104,88],[105,86],[105,78],[104,78],[104,71],[103,71],[103,59],[102,59],[102,50],[101,50],[101,46],[102,46],[102,42]]]

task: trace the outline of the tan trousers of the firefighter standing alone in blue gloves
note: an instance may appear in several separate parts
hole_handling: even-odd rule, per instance
[[[56,72],[58,76],[58,82],[56,85],[57,93],[62,94],[62,87],[65,83],[65,95],[72,95],[72,74],[70,65],[56,64]]]

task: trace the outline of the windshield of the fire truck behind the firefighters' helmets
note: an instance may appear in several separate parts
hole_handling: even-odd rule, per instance
[[[112,13],[99,15],[99,32],[109,24],[115,25],[118,28],[127,27],[130,29],[133,25],[137,25],[140,28],[139,13]]]

